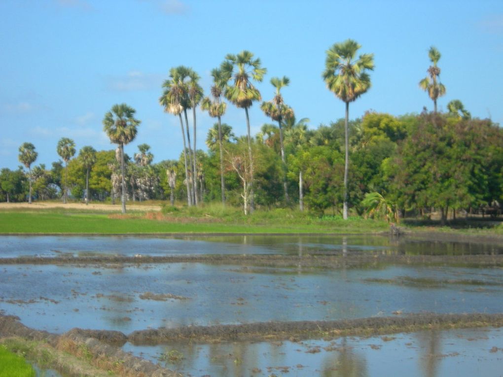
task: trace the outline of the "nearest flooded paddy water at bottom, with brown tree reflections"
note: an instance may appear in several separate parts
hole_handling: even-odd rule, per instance
[[[318,339],[298,343],[222,342],[123,347],[153,362],[191,375],[409,376],[500,375],[501,329],[463,329],[393,334],[387,337]],[[179,362],[159,361],[177,351]],[[175,353],[174,353],[175,354]],[[260,370],[260,372],[259,372]],[[288,370],[288,371],[287,371]]]

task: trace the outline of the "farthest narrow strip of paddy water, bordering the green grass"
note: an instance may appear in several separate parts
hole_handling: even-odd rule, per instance
[[[38,255],[501,254],[503,246],[389,236],[0,236],[0,258]]]

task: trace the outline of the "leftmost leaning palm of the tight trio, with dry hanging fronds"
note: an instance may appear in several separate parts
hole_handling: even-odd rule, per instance
[[[164,112],[178,116],[180,119],[180,128],[182,130],[182,139],[184,146],[184,163],[185,163],[185,184],[187,187],[187,204],[192,206],[191,184],[189,178],[189,168],[187,164],[187,145],[185,142],[184,122],[182,120],[182,112],[184,106],[187,105],[186,87],[184,83],[184,74],[178,68],[170,69],[170,78],[164,80],[162,87],[164,88],[162,96],[159,98],[159,104],[164,108]]]

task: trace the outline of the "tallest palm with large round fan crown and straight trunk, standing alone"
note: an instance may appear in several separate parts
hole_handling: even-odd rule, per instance
[[[346,104],[344,121],[346,162],[344,165],[343,208],[343,218],[345,220],[348,219],[349,104],[370,88],[370,76],[366,70],[374,69],[374,54],[363,54],[356,59],[356,53],[360,47],[352,39],[334,44],[326,52],[325,70],[323,71],[323,79],[327,88]]]

